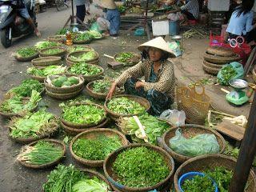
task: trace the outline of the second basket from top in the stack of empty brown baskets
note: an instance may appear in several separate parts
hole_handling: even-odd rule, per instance
[[[219,64],[226,64],[230,62],[238,62],[240,60],[240,55],[236,54],[235,56],[232,57],[222,57],[222,56],[217,56],[213,54],[203,54],[202,56],[207,62],[214,62],[214,63],[219,63]]]

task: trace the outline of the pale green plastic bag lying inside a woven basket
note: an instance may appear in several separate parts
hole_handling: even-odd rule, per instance
[[[194,138],[184,138],[182,129],[175,131],[169,140],[170,148],[177,154],[196,157],[202,154],[218,154],[219,145],[214,134],[198,134]]]

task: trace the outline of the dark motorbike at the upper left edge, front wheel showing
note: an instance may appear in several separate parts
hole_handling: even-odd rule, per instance
[[[33,19],[35,26],[38,26],[33,0],[25,0],[25,4],[30,18]],[[23,34],[34,33],[34,29],[30,23],[19,14],[19,7],[17,0],[0,0],[1,42],[6,48],[11,46],[12,38],[18,38]]]

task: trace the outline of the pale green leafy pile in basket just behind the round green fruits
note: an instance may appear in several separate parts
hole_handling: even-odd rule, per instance
[[[86,62],[78,62],[68,69],[70,74],[94,75],[102,72],[98,66],[89,66]]]

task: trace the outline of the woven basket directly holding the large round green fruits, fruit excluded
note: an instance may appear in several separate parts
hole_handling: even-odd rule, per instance
[[[57,87],[57,86],[50,85],[47,82],[47,78],[45,78],[44,84],[46,86],[46,91],[52,94],[74,94],[78,90],[82,90],[84,87],[85,79],[82,76],[78,76],[76,74],[66,74],[66,78],[70,78],[72,76],[80,78],[78,84],[73,86],[66,86],[66,87]]]

